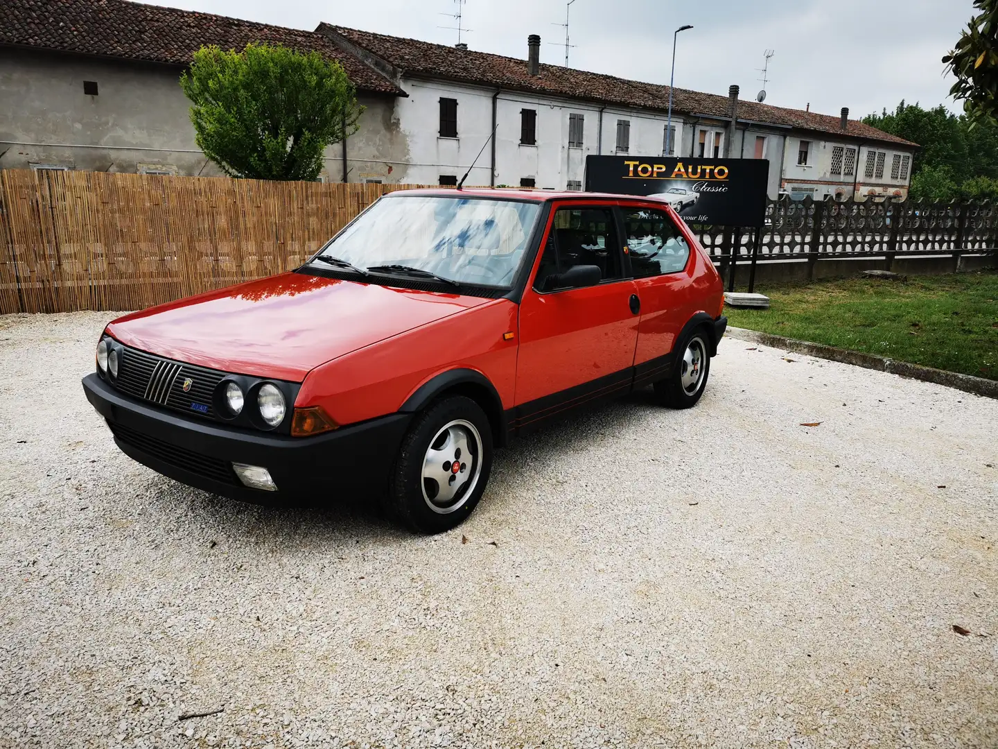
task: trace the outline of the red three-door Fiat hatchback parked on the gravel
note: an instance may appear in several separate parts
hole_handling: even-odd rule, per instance
[[[438,532],[511,436],[646,385],[696,403],[723,297],[662,201],[399,191],[295,271],[114,321],[83,386],[122,450],[179,481],[360,490]]]

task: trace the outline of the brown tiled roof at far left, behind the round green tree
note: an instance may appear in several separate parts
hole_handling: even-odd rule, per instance
[[[404,95],[321,34],[125,0],[0,0],[0,44],[186,65],[203,45],[271,42],[339,62],[363,91]]]

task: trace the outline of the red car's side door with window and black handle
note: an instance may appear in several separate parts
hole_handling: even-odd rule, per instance
[[[552,211],[520,304],[517,425],[631,387],[639,306],[614,211],[609,202]],[[580,265],[597,266],[600,283],[562,285],[559,276]]]

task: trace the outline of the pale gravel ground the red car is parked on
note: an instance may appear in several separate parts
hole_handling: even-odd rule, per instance
[[[0,746],[998,746],[998,401],[729,339],[425,538],[130,460],[110,317],[0,318]]]

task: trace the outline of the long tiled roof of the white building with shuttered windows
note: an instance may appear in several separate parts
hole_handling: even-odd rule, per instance
[[[584,98],[603,104],[644,107],[658,111],[665,111],[668,107],[668,86],[630,81],[560,65],[541,65],[540,75],[531,76],[527,73],[526,61],[515,57],[459,50],[417,39],[403,39],[327,24],[319,24],[316,31],[329,35],[331,39],[335,39],[338,34],[410,75],[446,78],[573,99]],[[687,115],[730,117],[728,97],[687,89],[674,90],[673,109]],[[739,101],[739,119],[822,133],[842,133],[837,116],[773,107],[753,100]],[[858,120],[848,121],[845,135],[864,140],[915,145]]]

